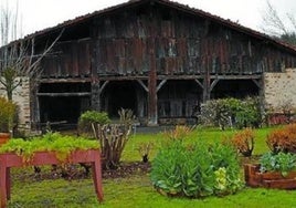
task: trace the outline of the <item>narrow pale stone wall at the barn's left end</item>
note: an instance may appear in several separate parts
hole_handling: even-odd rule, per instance
[[[21,84],[14,90],[12,100],[19,106],[19,126],[23,129],[30,128],[30,81],[21,79]],[[7,96],[3,85],[0,83],[0,96]]]

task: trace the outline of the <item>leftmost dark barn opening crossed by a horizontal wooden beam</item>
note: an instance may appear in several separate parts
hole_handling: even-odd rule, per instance
[[[91,107],[91,84],[42,83],[40,86],[40,122],[77,124],[82,112]]]

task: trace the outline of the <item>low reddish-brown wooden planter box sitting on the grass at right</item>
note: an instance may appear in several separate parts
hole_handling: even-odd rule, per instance
[[[244,177],[250,187],[296,189],[296,171],[284,177],[278,171],[261,173],[258,164],[245,164]]]

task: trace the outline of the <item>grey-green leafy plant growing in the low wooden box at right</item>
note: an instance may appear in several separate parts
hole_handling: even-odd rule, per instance
[[[296,155],[290,153],[266,153],[260,158],[262,173],[264,171],[281,171],[285,177],[288,171],[296,168]]]

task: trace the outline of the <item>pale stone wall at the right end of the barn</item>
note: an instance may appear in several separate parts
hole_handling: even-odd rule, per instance
[[[273,113],[296,110],[296,69],[264,73],[265,107]]]

